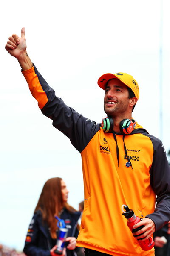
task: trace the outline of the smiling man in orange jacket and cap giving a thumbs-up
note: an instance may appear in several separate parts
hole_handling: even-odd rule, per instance
[[[85,247],[88,256],[154,255],[154,249],[143,251],[133,235],[147,241],[169,221],[170,168],[161,141],[132,119],[139,98],[136,80],[125,73],[99,78],[108,118],[96,124],[55,96],[28,57],[24,28],[20,38],[9,37],[6,50],[18,59],[42,113],[81,153],[85,207],[77,246]],[[133,235],[122,215],[123,204],[144,217],[133,228],[144,227]]]

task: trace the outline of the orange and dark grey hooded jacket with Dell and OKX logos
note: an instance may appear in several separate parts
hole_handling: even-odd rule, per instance
[[[170,167],[161,141],[139,124],[130,135],[104,132],[56,97],[35,66],[22,73],[42,113],[82,156],[85,207],[77,245],[114,256],[154,255],[141,249],[121,206],[152,219],[156,230],[170,220]]]

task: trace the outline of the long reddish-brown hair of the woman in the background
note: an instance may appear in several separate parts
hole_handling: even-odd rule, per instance
[[[63,207],[69,212],[76,212],[72,206],[62,200],[61,180],[62,178],[55,177],[45,182],[34,210],[34,213],[37,212],[37,210],[42,212],[42,220],[50,227],[50,234],[53,239],[57,238],[57,220],[54,216],[57,215],[59,217],[59,212]]]

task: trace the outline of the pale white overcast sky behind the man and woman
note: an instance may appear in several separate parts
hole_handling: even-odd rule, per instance
[[[140,90],[133,118],[160,138],[168,151],[169,9],[169,0],[3,2],[0,243],[23,250],[47,179],[62,177],[74,208],[84,199],[80,154],[42,115],[17,59],[5,50],[8,37],[20,36],[25,27],[27,52],[39,72],[68,106],[96,123],[105,117],[99,77],[117,72],[133,75]]]

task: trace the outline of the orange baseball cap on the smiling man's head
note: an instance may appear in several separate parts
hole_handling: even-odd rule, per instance
[[[116,73],[116,74],[111,74],[107,73],[102,75],[99,80],[98,80],[98,85],[100,88],[105,90],[106,83],[110,79],[119,79],[121,82],[123,82],[125,85],[127,85],[135,94],[136,98],[139,99],[139,86],[136,80],[129,74],[127,73]]]

